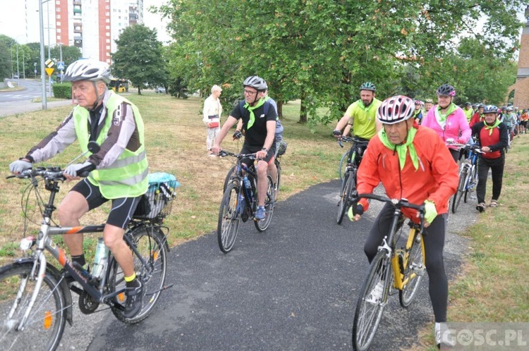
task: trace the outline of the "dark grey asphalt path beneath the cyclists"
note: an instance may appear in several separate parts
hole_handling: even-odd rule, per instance
[[[363,243],[382,205],[372,202],[361,221],[345,218],[339,226],[338,192],[334,180],[278,202],[265,233],[250,221],[241,224],[229,254],[219,250],[216,232],[172,248],[166,283],[174,287],[152,314],[133,326],[99,314],[96,326],[85,328],[95,329],[84,335],[92,339],[87,350],[351,350],[357,293],[368,269]],[[449,218],[450,279],[468,247],[454,231],[473,221],[474,207],[461,204]],[[413,345],[418,328],[433,321],[427,285],[425,278],[408,310],[398,295],[390,298],[371,350]],[[74,317],[74,326],[82,330],[83,323],[83,316]],[[75,347],[68,328],[61,349],[85,349]]]

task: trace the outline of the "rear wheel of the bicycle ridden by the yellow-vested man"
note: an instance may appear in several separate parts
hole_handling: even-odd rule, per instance
[[[149,316],[164,289],[167,273],[167,238],[162,232],[162,228],[157,226],[140,226],[126,235],[132,235],[135,248],[146,263],[145,265],[142,264],[138,256],[133,254],[134,271],[136,276],[141,278],[144,286],[142,309],[133,318],[125,318],[121,308],[111,307],[111,310],[119,321],[126,324],[136,324]],[[109,261],[107,282],[109,292],[125,288],[123,271],[114,256]],[[124,293],[118,294],[115,299],[116,302],[123,305],[126,302],[126,295]]]

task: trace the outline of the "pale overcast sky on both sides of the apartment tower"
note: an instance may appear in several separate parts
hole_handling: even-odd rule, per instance
[[[38,2],[28,2],[28,18],[25,16],[25,3],[23,0],[0,0],[0,34],[12,37],[20,44],[26,44],[27,42],[39,42],[39,13],[38,13]],[[144,20],[145,25],[150,28],[155,28],[158,32],[158,40],[161,42],[167,42],[171,40],[171,37],[165,30],[166,21],[162,21],[161,16],[155,15],[147,11],[150,6],[160,6],[165,0],[144,0],[145,6]],[[48,4],[53,4],[51,0],[44,3],[44,27],[47,25],[47,12],[46,8]],[[6,11],[8,9],[8,11]],[[27,20],[27,23],[26,23]],[[53,20],[51,20],[54,27]],[[51,31],[51,43],[54,44],[53,39],[54,31]],[[48,44],[47,29],[44,29],[44,42]]]

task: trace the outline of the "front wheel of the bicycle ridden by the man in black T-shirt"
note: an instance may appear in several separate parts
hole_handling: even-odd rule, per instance
[[[220,250],[225,254],[233,248],[237,238],[240,223],[239,212],[242,212],[237,210],[240,191],[241,188],[237,182],[229,183],[221,199],[219,221],[217,223],[217,241],[219,242]]]

